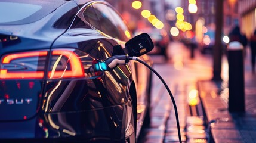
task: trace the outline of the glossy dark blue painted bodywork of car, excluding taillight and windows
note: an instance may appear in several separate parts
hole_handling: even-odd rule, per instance
[[[51,5],[51,2],[44,4]],[[42,17],[32,17],[27,23],[21,21],[22,24],[0,24],[2,72],[6,55],[33,51],[47,53],[37,60],[40,71],[44,72],[42,78],[0,79],[1,142],[44,142],[42,139],[125,142],[124,119],[129,95],[137,105],[138,137],[149,107],[150,71],[134,61],[110,71],[91,70],[95,62],[105,60],[113,53],[119,54],[113,46],[124,46],[125,42],[106,35],[78,17],[93,4],[108,5],[103,1],[59,0],[54,1]],[[85,76],[54,76],[56,58],[60,56],[54,55],[54,51],[77,54]],[[146,55],[140,58],[150,64]]]

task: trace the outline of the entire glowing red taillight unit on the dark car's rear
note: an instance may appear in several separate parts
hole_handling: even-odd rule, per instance
[[[48,51],[5,55],[1,60],[0,79],[42,79],[45,76]],[[51,52],[48,79],[84,77],[78,55],[69,50]]]

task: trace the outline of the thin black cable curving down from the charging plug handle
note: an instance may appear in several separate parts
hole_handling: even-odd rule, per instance
[[[174,100],[174,97],[171,93],[171,90],[169,89],[168,85],[165,83],[165,80],[160,76],[160,74],[158,72],[156,72],[156,70],[154,70],[152,67],[150,67],[147,63],[145,63],[144,61],[138,59],[137,57],[129,57],[130,60],[136,60],[138,62],[140,62],[141,64],[144,64],[146,67],[148,67],[150,70],[153,71],[153,73],[156,74],[156,76],[158,76],[158,78],[161,80],[162,83],[164,83],[164,86],[165,88],[167,89],[170,97],[171,97],[171,100],[172,100],[172,104],[174,106],[174,111],[175,111],[175,116],[176,116],[176,122],[177,122],[177,129],[178,129],[178,139],[181,143],[181,134],[180,134],[180,123],[179,123],[179,120],[178,120],[178,110],[177,110],[177,106],[176,106],[176,103],[175,103],[175,100]]]

